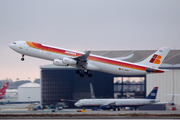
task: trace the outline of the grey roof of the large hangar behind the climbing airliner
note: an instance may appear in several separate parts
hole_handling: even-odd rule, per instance
[[[91,51],[91,54],[100,55],[109,58],[119,58],[119,57],[127,57],[124,61],[128,62],[140,62],[153,54],[157,50],[105,50],[105,51]],[[55,66],[55,65],[44,65],[40,66],[41,69],[64,69],[64,68],[71,68],[74,67],[70,66]],[[176,68],[180,69],[180,50],[170,50],[166,58],[164,59],[163,63],[160,65],[160,68]]]

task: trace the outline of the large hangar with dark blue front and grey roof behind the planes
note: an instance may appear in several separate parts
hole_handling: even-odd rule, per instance
[[[131,51],[92,51],[91,54],[139,62],[155,50]],[[55,65],[40,66],[41,69],[41,104],[50,105],[57,102],[91,98],[90,83],[97,98],[144,98],[154,87],[159,87],[157,99],[170,101],[175,94],[174,103],[180,105],[180,50],[171,50],[161,69],[165,73],[139,76],[122,76],[98,71],[91,71],[93,77],[80,77],[75,68]]]

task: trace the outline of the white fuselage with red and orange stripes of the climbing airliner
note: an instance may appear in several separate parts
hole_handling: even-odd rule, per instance
[[[32,45],[31,45],[32,44]],[[46,59],[54,61],[54,59],[62,60],[64,57],[75,58],[84,53],[76,52],[68,49],[57,48],[49,45],[38,44],[33,45],[32,42],[27,41],[17,41],[14,44],[9,45],[10,48],[16,52],[32,56],[36,58]],[[70,65],[77,67],[76,65]],[[87,58],[87,69],[102,71],[117,75],[143,75],[147,74],[146,68],[148,66],[143,66],[136,63],[125,62],[117,59],[97,56],[90,54]]]

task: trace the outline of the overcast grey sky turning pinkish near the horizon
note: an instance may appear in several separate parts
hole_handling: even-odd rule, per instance
[[[0,80],[40,77],[8,44],[25,40],[85,50],[180,49],[180,0],[0,0]]]

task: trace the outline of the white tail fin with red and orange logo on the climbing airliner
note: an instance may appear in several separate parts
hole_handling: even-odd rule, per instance
[[[155,53],[150,55],[145,60],[139,62],[139,64],[149,66],[150,68],[158,68],[161,63],[163,62],[164,58],[169,53],[170,48],[163,47],[159,50],[157,50]]]

